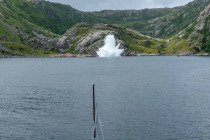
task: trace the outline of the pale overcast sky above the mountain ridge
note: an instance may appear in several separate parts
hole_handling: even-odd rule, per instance
[[[124,10],[182,6],[193,0],[47,0],[71,5],[80,11]]]

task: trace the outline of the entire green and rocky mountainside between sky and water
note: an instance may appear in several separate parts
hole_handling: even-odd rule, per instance
[[[81,12],[68,5],[43,0],[4,0],[0,2],[0,55],[53,56],[70,53],[70,56],[96,56],[96,50],[103,45],[103,39],[109,33],[121,42],[121,47],[125,49],[123,55],[192,55],[209,52],[209,14],[203,20],[205,28],[199,32],[195,28],[201,23],[197,18],[202,17],[200,13],[208,9],[204,10],[204,7],[209,1],[195,0],[181,7],[144,9],[140,13],[138,10],[128,10],[126,14],[129,16],[125,16],[122,10],[115,11],[122,14],[115,19],[115,22],[119,22],[116,24],[111,23],[116,15],[108,15],[111,19],[105,18],[104,11]],[[195,6],[196,9],[193,9]],[[209,13],[209,10],[206,11]],[[141,21],[132,21],[139,20],[132,19],[136,14],[145,14],[145,17]],[[125,19],[122,20],[121,16]],[[129,21],[127,17],[132,20]],[[126,23],[126,20],[129,22]],[[138,22],[145,22],[146,25],[141,28],[150,26],[150,29],[146,29],[148,34],[123,25],[133,22],[138,26],[141,26]],[[68,23],[71,24],[66,26]],[[166,32],[160,31],[160,28]],[[153,35],[158,32],[162,32],[162,35]],[[171,35],[165,37],[167,32]],[[193,43],[195,39],[192,34],[200,34],[200,44]]]

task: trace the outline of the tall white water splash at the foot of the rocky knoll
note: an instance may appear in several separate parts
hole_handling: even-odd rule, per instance
[[[99,57],[120,57],[124,51],[119,49],[120,44],[116,46],[116,40],[112,34],[106,36],[104,43],[104,46],[96,51]]]

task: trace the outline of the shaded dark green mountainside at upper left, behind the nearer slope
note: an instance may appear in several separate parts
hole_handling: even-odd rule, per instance
[[[4,2],[11,11],[29,22],[60,35],[77,23],[97,22],[96,17],[69,5],[44,0],[4,0]]]

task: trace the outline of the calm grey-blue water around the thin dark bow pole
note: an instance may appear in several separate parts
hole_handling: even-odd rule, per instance
[[[210,139],[210,57],[0,59],[0,139]]]

